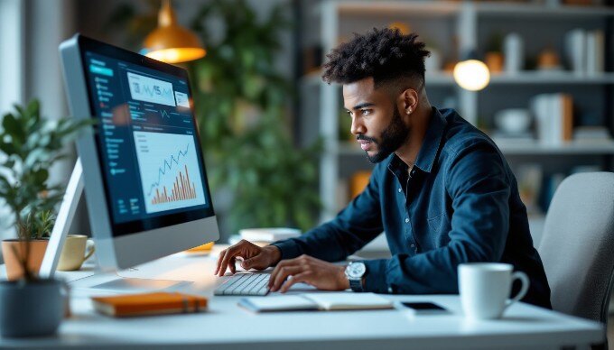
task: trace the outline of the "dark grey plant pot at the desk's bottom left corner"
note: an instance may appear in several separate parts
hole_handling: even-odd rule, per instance
[[[0,282],[0,336],[51,336],[64,315],[64,282]]]

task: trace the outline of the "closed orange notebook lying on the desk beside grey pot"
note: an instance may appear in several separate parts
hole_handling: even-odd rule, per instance
[[[207,298],[176,292],[92,297],[92,303],[98,312],[119,318],[181,314],[207,309]]]

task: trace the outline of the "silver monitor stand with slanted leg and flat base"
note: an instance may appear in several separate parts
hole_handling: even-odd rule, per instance
[[[75,167],[70,174],[69,184],[66,187],[66,193],[60,205],[60,211],[55,220],[53,230],[47,250],[42,258],[41,270],[39,276],[41,278],[52,279],[60,261],[61,248],[64,246],[66,235],[68,235],[70,224],[75,217],[75,211],[79,204],[79,198],[83,194],[83,167],[78,158]],[[191,281],[172,281],[172,280],[150,280],[142,278],[123,277],[115,272],[117,279],[107,281],[105,283],[92,286],[91,289],[96,290],[113,290],[113,291],[145,291],[145,290],[164,290],[180,285],[191,284]]]

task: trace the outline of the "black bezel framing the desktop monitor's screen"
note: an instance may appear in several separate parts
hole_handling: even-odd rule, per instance
[[[204,191],[206,193],[207,198],[209,198],[209,207],[205,207],[205,208],[200,207],[200,208],[196,208],[192,210],[182,211],[179,213],[161,214],[159,216],[152,216],[152,217],[147,217],[147,218],[142,218],[142,219],[136,219],[136,220],[126,221],[126,222],[116,223],[115,218],[114,218],[114,213],[113,213],[111,193],[107,185],[107,174],[104,171],[104,164],[102,164],[103,157],[102,157],[102,150],[100,148],[101,145],[100,145],[100,140],[99,140],[99,137],[101,136],[101,134],[100,134],[98,127],[95,125],[93,134],[94,134],[95,143],[96,143],[97,161],[98,161],[99,170],[102,175],[102,184],[104,187],[104,193],[105,193],[105,199],[106,199],[105,202],[106,202],[107,213],[109,217],[109,224],[110,224],[112,235],[113,236],[131,235],[131,234],[141,233],[141,232],[148,231],[148,230],[163,228],[167,226],[174,226],[174,225],[178,225],[178,224],[182,224],[182,223],[186,223],[190,221],[195,221],[195,220],[207,218],[209,216],[215,216],[215,210],[213,208],[213,200],[211,198],[211,193],[209,189],[207,168],[206,168],[204,157],[202,155],[202,148],[201,148],[202,145],[200,144],[200,133],[197,127],[198,124],[196,121],[194,106],[192,102],[193,95],[191,91],[191,84],[190,84],[190,79],[189,79],[187,71],[185,69],[181,69],[180,67],[172,66],[170,64],[163,63],[158,60],[153,60],[146,56],[140,55],[138,53],[135,53],[132,51],[126,51],[124,49],[117,48],[115,46],[85,37],[83,35],[78,36],[78,44],[79,44],[78,45],[79,46],[79,58],[81,60],[82,74],[83,74],[83,77],[85,78],[85,84],[87,88],[88,108],[89,108],[90,118],[98,118],[98,115],[96,115],[96,109],[94,108],[95,102],[93,101],[93,97],[90,93],[91,83],[88,78],[88,71],[87,71],[88,65],[87,65],[87,60],[86,60],[86,52],[88,51],[102,55],[102,56],[106,56],[111,59],[123,60],[123,61],[126,61],[127,63],[141,65],[148,69],[158,70],[162,72],[163,74],[169,74],[176,78],[184,79],[186,82],[188,82],[187,84],[188,93],[190,94],[190,97],[191,97],[190,98],[191,118],[192,118],[192,123],[195,125],[194,135],[197,138],[197,142],[198,142],[196,151],[198,154],[200,164],[202,166],[202,175],[204,178],[204,183],[203,183]]]

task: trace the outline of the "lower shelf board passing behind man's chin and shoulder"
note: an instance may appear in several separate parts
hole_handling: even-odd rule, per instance
[[[614,142],[600,143],[563,143],[550,145],[541,143],[498,143],[498,147],[506,155],[594,155],[614,154]],[[337,151],[340,156],[365,155],[358,143],[343,142]]]

